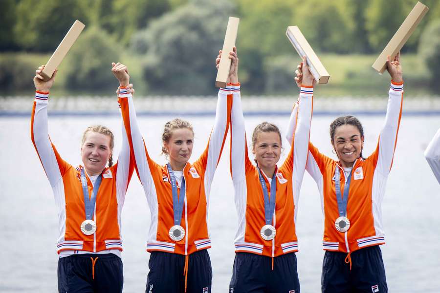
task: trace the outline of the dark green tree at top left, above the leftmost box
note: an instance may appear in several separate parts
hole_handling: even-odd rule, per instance
[[[21,0],[14,35],[26,50],[54,51],[75,20],[88,24],[86,0]]]

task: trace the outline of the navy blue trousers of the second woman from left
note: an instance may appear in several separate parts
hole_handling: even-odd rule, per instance
[[[185,255],[153,251],[148,262],[146,293],[184,293]],[[187,293],[211,293],[212,267],[206,249],[188,255]]]

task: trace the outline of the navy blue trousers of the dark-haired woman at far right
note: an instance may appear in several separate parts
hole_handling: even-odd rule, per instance
[[[382,252],[378,245],[352,252],[352,270],[347,253],[326,251],[322,264],[323,293],[387,293]]]

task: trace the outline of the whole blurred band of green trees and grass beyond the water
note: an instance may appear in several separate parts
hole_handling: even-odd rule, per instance
[[[239,78],[249,94],[295,90],[300,61],[285,36],[298,25],[330,72],[325,92],[376,93],[389,80],[371,68],[415,0],[3,0],[0,10],[0,84],[13,92],[32,87],[74,20],[86,29],[60,66],[57,90],[113,92],[110,62],[129,65],[144,94],[212,94],[214,59],[228,16],[240,17]],[[402,49],[405,82],[434,92],[440,68],[440,1],[430,7]],[[424,35],[422,37],[422,34]],[[406,69],[406,70],[405,70]],[[78,87],[81,85],[81,89]],[[383,91],[382,89],[380,89]]]

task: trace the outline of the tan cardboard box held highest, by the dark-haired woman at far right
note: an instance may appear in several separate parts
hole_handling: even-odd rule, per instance
[[[400,25],[399,29],[396,31],[396,34],[394,34],[385,49],[383,49],[382,53],[380,53],[379,57],[374,61],[372,67],[377,70],[379,74],[382,74],[386,68],[387,56],[390,55],[391,59],[396,57],[397,52],[400,51],[405,42],[411,37],[418,23],[422,20],[428,10],[428,6],[417,2],[416,6],[414,6],[413,10],[411,10],[402,25]]]

